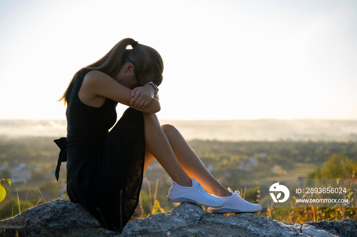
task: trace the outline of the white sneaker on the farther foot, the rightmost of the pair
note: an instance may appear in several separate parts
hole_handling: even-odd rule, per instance
[[[233,193],[231,188],[228,188],[228,191],[232,193],[232,196],[219,197],[223,201],[222,207],[212,207],[207,211],[212,213],[256,213],[262,211],[261,205],[247,202],[241,197],[239,191]]]

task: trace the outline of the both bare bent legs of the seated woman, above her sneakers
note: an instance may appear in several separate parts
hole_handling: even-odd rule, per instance
[[[188,181],[187,177],[195,177],[209,193],[217,196],[232,195],[212,176],[175,127],[160,126],[155,114],[144,113],[144,121],[146,142],[144,168],[156,158],[177,184],[191,186],[191,179]]]

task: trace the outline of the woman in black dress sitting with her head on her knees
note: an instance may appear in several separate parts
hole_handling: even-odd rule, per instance
[[[61,98],[67,104],[67,137],[55,140],[61,148],[56,177],[67,161],[70,200],[106,228],[121,231],[138,204],[143,171],[157,159],[172,180],[169,201],[209,206],[213,213],[261,211],[218,183],[179,131],[159,124],[163,69],[155,49],[127,38],[73,76]],[[108,132],[117,103],[130,108]]]

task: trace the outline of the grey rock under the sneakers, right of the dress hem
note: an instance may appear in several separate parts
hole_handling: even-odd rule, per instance
[[[125,236],[357,236],[351,219],[291,224],[254,214],[212,214],[192,203],[127,224]]]

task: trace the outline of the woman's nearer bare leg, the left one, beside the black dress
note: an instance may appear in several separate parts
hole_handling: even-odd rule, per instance
[[[143,115],[145,123],[145,147],[147,150],[145,153],[145,163],[149,164],[152,161],[152,156],[154,156],[173,181],[181,186],[192,186],[192,180],[179,161],[177,161],[156,114],[143,113]]]

